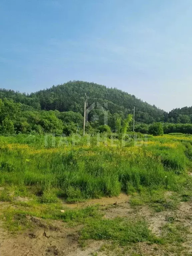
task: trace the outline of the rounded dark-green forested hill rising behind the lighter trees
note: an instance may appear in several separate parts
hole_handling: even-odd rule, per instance
[[[116,88],[83,81],[69,81],[30,95],[1,89],[0,98],[11,98],[15,102],[32,106],[34,109],[74,111],[83,114],[85,93],[88,96],[88,106],[98,102],[104,107],[104,103],[107,103],[107,109],[111,114],[119,113],[122,116],[133,113],[135,106],[137,122],[149,124],[154,121],[164,121],[163,110],[137,99],[134,95]],[[89,118],[93,118],[94,115],[99,116],[99,112],[99,109],[93,110]]]

